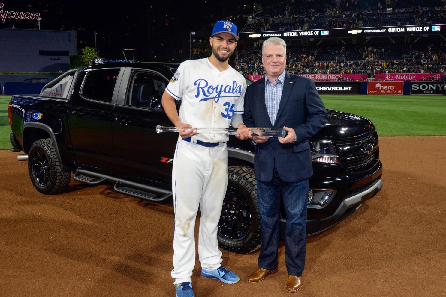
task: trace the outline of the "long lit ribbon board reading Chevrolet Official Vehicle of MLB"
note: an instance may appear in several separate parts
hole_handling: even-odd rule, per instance
[[[355,36],[388,36],[407,34],[444,34],[446,24],[435,25],[412,25],[395,27],[363,27],[363,28],[336,28],[336,29],[314,29],[294,31],[271,31],[271,32],[240,32],[240,39],[261,39],[269,37],[280,37],[283,39],[301,38],[326,38],[326,37],[355,37]]]

